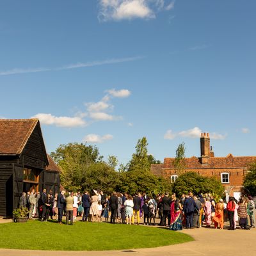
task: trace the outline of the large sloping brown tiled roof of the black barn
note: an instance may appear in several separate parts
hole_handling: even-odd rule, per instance
[[[0,154],[21,154],[38,119],[0,119]]]

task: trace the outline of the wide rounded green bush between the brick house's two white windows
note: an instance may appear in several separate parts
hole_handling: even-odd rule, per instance
[[[181,174],[173,184],[173,192],[177,196],[189,191],[195,195],[199,193],[211,193],[212,195],[222,196],[224,188],[221,182],[214,177],[204,177],[195,172]]]

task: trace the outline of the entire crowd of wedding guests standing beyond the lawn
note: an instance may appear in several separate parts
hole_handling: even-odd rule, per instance
[[[218,202],[217,202],[218,201]],[[148,196],[146,193],[113,192],[106,195],[101,190],[93,190],[92,193],[61,191],[53,195],[46,189],[42,193],[33,189],[28,193],[22,193],[20,207],[28,207],[29,219],[39,218],[41,221],[53,219],[56,216],[58,223],[63,223],[63,214],[66,216],[66,224],[74,225],[77,216],[82,221],[123,223],[127,225],[167,226],[170,230],[182,230],[185,228],[214,227],[223,229],[224,222],[229,220],[229,229],[235,230],[237,223],[244,229],[255,227],[255,203],[251,196],[243,196],[237,202],[230,197],[228,202],[223,199],[216,200],[209,194],[188,195],[183,194],[177,198],[175,193],[156,196]],[[159,222],[159,223],[158,223]]]

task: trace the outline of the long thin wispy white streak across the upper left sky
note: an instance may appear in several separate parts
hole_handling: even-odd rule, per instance
[[[11,70],[0,71],[0,76],[35,73],[35,72],[46,72],[46,71],[58,71],[58,70],[67,70],[72,68],[94,67],[94,66],[100,66],[100,65],[109,65],[109,64],[122,63],[122,62],[128,62],[128,61],[136,61],[136,60],[141,60],[143,58],[145,57],[136,56],[131,58],[109,59],[109,60],[102,60],[102,61],[70,64],[67,66],[56,67],[56,68],[13,68]]]

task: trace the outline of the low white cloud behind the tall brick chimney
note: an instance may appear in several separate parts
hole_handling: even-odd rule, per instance
[[[165,140],[173,140],[174,138],[177,137],[185,137],[185,138],[200,138],[202,133],[202,129],[199,127],[194,127],[193,129],[189,129],[186,131],[181,131],[181,132],[172,132],[172,130],[168,130],[166,134],[164,134],[164,139]],[[209,136],[212,140],[224,140],[227,137],[227,134],[219,134],[217,132],[210,132]]]

